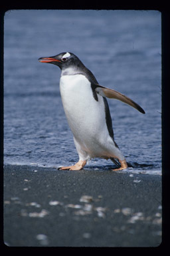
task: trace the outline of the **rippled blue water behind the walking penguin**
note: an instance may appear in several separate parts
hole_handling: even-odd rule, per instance
[[[130,171],[161,174],[161,13],[13,10],[5,13],[4,163],[78,161],[60,99],[60,69],[39,57],[76,54],[100,85],[136,101],[145,115],[108,100],[114,136]],[[86,168],[112,169],[94,159]]]

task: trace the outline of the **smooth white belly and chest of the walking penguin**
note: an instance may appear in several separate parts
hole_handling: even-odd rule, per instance
[[[107,157],[114,142],[106,125],[103,97],[94,99],[91,85],[84,75],[63,75],[60,94],[70,129],[83,151],[91,157]],[[114,147],[115,148],[115,147]]]

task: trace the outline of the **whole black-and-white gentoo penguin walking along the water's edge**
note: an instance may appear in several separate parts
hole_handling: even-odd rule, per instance
[[[99,85],[92,72],[73,53],[64,52],[52,57],[41,57],[39,61],[52,63],[61,69],[62,105],[79,156],[75,165],[59,169],[80,170],[88,159],[96,157],[111,159],[118,165],[114,171],[126,169],[126,159],[114,141],[106,97],[123,101],[143,114],[145,111],[122,93]]]

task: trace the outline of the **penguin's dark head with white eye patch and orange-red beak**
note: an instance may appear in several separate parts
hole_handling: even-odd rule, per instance
[[[52,57],[41,57],[39,61],[42,63],[51,63],[60,67],[60,69],[67,69],[68,67],[76,67],[82,65],[82,62],[73,53],[60,53]]]

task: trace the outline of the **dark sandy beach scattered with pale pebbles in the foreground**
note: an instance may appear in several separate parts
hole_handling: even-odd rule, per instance
[[[157,247],[161,176],[4,167],[9,247]]]

